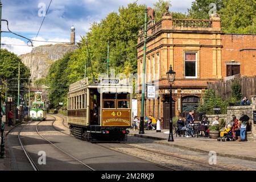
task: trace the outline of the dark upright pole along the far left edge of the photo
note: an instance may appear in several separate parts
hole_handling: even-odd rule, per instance
[[[2,2],[0,0],[0,59],[1,59],[1,37],[2,37]],[[0,86],[2,85],[2,80],[0,79]],[[5,158],[5,124],[2,122],[2,97],[0,93],[0,129],[1,129],[1,151],[0,158]]]

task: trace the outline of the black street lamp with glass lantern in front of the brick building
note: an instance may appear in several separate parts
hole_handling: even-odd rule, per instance
[[[172,70],[172,65],[170,65],[169,71],[166,73],[168,82],[170,84],[170,132],[168,142],[174,142],[174,135],[172,134],[172,84],[174,83],[175,72]]]

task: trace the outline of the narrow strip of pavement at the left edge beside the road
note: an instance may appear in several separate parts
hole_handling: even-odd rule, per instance
[[[5,115],[2,117],[2,122],[5,123]],[[7,124],[5,125],[5,135],[8,133],[10,129],[12,129],[14,126],[9,127]],[[1,135],[0,135],[0,142],[1,142]],[[9,148],[7,144],[7,139],[5,137],[5,158],[0,159],[0,171],[10,171],[10,163],[11,163],[11,158],[9,155]]]

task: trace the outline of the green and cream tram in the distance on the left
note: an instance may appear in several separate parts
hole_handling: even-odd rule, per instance
[[[31,104],[30,119],[32,121],[46,120],[46,102],[43,101],[42,92],[35,93],[35,100]]]

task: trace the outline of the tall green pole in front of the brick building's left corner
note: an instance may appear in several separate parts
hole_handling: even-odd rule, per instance
[[[143,55],[143,73],[142,73],[142,90],[141,90],[141,122],[139,134],[144,134],[144,97],[145,97],[145,72],[146,72],[146,43],[147,43],[147,6],[145,9],[144,25],[144,55]]]

